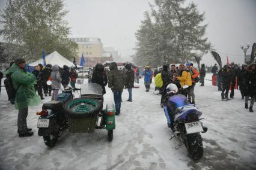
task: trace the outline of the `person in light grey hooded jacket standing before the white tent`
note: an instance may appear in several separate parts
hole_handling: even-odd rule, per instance
[[[52,89],[53,93],[52,93],[52,101],[56,101],[56,99],[58,99],[58,93],[59,90],[61,88],[61,75],[59,74],[59,66],[58,65],[53,65],[52,66],[52,73],[50,74],[50,77],[52,78]],[[58,88],[58,89],[55,89]]]

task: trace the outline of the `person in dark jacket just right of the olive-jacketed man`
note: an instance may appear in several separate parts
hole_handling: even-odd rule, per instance
[[[128,92],[129,92],[129,98],[128,98],[128,102],[132,102],[132,88],[134,86],[134,71],[132,69],[132,66],[130,64],[126,64],[125,68],[127,69],[126,71],[126,84],[125,84],[125,88],[127,88]]]

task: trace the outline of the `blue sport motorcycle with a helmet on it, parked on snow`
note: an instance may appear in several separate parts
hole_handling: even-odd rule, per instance
[[[200,132],[206,133],[207,127],[200,121],[202,113],[187,101],[187,87],[183,86],[183,89],[178,90],[175,84],[169,84],[166,87],[163,110],[167,125],[174,132],[172,138],[180,138],[189,157],[198,160],[203,156],[203,139]]]

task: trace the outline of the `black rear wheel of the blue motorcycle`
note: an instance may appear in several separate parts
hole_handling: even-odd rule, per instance
[[[200,133],[192,133],[187,135],[186,147],[189,153],[189,157],[191,157],[194,160],[200,159],[204,153],[203,139]]]

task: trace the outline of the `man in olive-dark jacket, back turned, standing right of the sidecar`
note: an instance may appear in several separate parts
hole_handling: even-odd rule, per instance
[[[115,101],[115,114],[120,114],[121,109],[121,94],[124,89],[124,75],[123,73],[117,69],[117,63],[112,62],[109,65],[109,73],[108,73],[108,87],[111,88],[114,93],[114,101]]]

